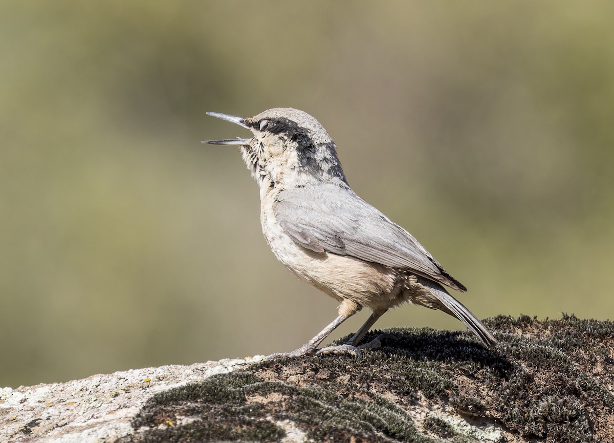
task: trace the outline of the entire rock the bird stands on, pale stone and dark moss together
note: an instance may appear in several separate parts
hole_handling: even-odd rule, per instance
[[[614,442],[614,323],[390,329],[349,356],[222,360],[0,391],[9,442]],[[371,332],[365,340],[382,331]]]

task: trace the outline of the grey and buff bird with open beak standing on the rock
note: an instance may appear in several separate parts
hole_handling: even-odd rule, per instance
[[[252,132],[251,138],[202,143],[239,147],[260,188],[260,222],[273,254],[300,280],[340,302],[338,316],[313,339],[273,356],[360,356],[364,335],[389,308],[403,303],[441,310],[465,323],[486,348],[495,346],[491,332],[444,287],[467,288],[413,235],[351,189],[335,142],[314,117],[293,108],[247,118],[207,114]],[[347,343],[318,348],[363,307],[371,315]]]

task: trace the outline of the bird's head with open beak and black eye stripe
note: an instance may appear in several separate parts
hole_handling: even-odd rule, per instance
[[[317,182],[348,186],[335,143],[322,125],[306,112],[273,108],[246,119],[218,112],[207,114],[254,133],[252,138],[203,143],[241,147],[243,160],[261,188],[290,188]]]

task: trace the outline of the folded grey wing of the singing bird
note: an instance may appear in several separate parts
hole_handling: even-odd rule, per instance
[[[283,190],[275,215],[292,240],[316,253],[405,269],[466,291],[409,232],[352,190],[332,184]]]

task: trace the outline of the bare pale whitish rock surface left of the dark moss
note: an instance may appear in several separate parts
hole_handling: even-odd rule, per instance
[[[225,359],[93,375],[83,380],[0,389],[0,442],[110,442],[133,432],[132,420],[154,394],[258,359]]]

